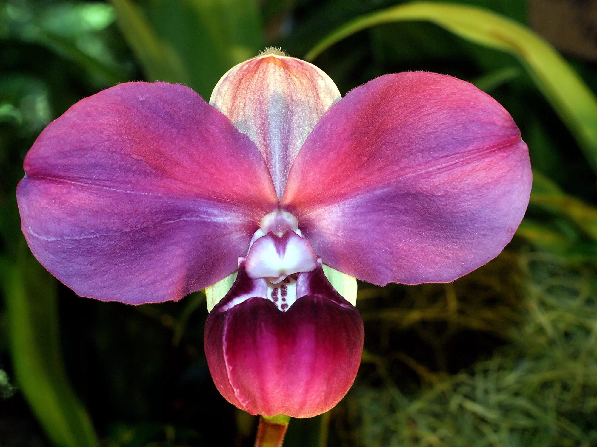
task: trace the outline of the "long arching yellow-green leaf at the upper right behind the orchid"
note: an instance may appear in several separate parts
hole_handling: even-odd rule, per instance
[[[356,32],[395,21],[430,21],[461,38],[515,55],[573,133],[597,172],[595,95],[551,45],[509,18],[464,5],[411,2],[355,18],[315,45],[305,59],[312,61],[331,45]]]

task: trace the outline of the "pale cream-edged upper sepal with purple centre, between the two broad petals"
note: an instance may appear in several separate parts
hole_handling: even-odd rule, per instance
[[[214,88],[210,104],[255,142],[282,197],[298,150],[338,100],[333,80],[317,67],[267,54],[230,69]]]

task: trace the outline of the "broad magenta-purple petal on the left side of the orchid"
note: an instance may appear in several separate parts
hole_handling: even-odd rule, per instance
[[[256,146],[191,89],[124,83],[73,105],[27,154],[30,249],[82,296],[177,300],[235,271],[276,207]]]

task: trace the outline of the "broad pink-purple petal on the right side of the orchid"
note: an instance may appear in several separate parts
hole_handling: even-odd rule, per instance
[[[374,284],[452,281],[512,239],[531,191],[512,117],[470,83],[386,75],[322,117],[284,209],[323,262]]]

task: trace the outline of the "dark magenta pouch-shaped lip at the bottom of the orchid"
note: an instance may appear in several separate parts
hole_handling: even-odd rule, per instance
[[[361,316],[331,286],[311,287],[327,283],[321,265],[299,281],[303,275],[313,277],[301,285],[313,293],[286,312],[259,295],[230,308],[233,289],[205,322],[205,355],[214,383],[227,401],[251,414],[321,414],[355,379],[364,340]],[[250,281],[256,280],[241,265],[237,282]],[[238,292],[254,289],[239,286]]]

